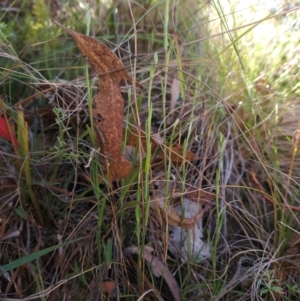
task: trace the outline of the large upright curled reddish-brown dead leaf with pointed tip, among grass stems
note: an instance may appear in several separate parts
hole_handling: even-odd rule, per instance
[[[132,83],[132,78],[118,57],[104,44],[68,29],[57,21],[53,22],[74,38],[81,54],[88,58],[95,75],[99,75],[99,92],[93,99],[96,141],[110,179],[126,178],[130,173],[131,163],[121,153],[124,101],[120,84],[124,80]],[[138,83],[136,85],[141,87]]]

